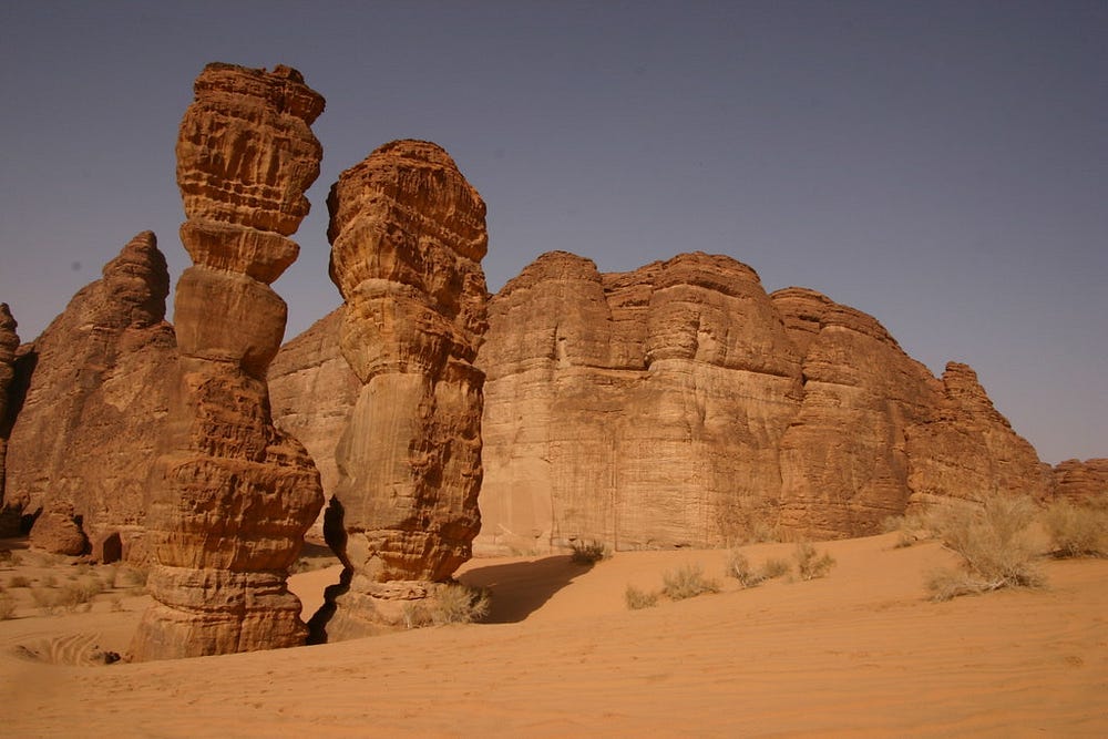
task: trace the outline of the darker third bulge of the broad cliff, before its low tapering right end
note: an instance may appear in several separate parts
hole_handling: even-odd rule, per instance
[[[905,427],[931,418],[938,383],[871,316],[801,288],[771,298],[804,357],[803,402],[780,444],[780,525],[878,533],[907,504]]]

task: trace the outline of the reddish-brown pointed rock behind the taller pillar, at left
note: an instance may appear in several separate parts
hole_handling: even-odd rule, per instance
[[[103,543],[120,538],[124,556],[142,558],[146,476],[175,358],[168,290],[165,257],[143,232],[22,351],[30,381],[4,495],[39,516],[34,545],[103,558]]]

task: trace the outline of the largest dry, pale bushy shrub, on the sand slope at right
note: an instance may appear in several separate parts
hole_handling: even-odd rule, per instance
[[[962,558],[957,571],[938,569],[929,575],[926,586],[932,599],[1043,585],[1037,551],[1028,532],[1034,519],[1034,503],[1010,495],[993,496],[979,509],[932,512],[933,531]]]

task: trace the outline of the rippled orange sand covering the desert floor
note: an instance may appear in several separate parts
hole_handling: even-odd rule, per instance
[[[821,544],[823,579],[741,589],[726,552],[475,560],[489,622],[268,653],[102,664],[125,651],[146,596],[40,615],[29,588],[74,576],[19,552],[0,564],[0,733],[113,736],[1108,736],[1108,561],[1047,562],[1048,586],[931,603],[948,564],[895,534]],[[745,548],[750,562],[792,546]],[[722,592],[628,610],[628,584],[699,563]],[[66,569],[68,568],[68,569]],[[310,613],[326,568],[296,575]],[[100,661],[101,664],[94,664]]]

